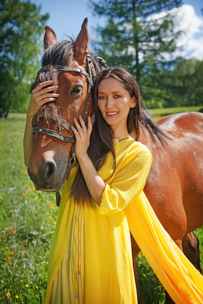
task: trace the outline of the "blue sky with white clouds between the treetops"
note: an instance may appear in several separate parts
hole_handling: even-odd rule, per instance
[[[90,38],[95,38],[96,33],[93,28],[102,22],[102,19],[92,16],[92,11],[87,7],[88,0],[31,0],[31,2],[41,4],[41,14],[49,13],[47,25],[55,31],[58,40],[62,40],[65,34],[76,38],[85,17],[88,17]],[[180,41],[180,45],[185,45],[185,56],[195,56],[203,60],[203,14],[201,13],[203,1],[184,0],[183,3],[184,6],[179,13],[182,20],[181,29],[185,29],[187,35]]]

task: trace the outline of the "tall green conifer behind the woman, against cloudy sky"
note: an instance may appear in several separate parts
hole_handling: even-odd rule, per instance
[[[163,72],[176,65],[176,42],[180,37],[178,18],[172,11],[182,0],[90,0],[92,13],[106,17],[107,24],[97,27],[94,51],[103,56],[110,66],[128,67],[140,82],[145,99],[156,91],[162,103]],[[157,86],[154,86],[157,84]],[[161,86],[160,86],[161,85]],[[163,90],[162,90],[163,89]],[[153,102],[152,102],[153,103]]]

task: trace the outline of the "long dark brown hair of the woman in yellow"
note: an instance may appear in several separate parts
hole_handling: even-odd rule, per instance
[[[108,68],[101,71],[95,78],[92,87],[95,122],[90,138],[90,146],[88,148],[88,155],[97,171],[104,165],[107,155],[110,152],[114,158],[114,169],[116,166],[115,153],[113,149],[113,130],[111,129],[111,126],[106,123],[97,106],[99,84],[103,79],[111,77],[123,84],[125,89],[129,92],[130,97],[135,97],[136,106],[129,110],[127,127],[129,134],[131,134],[136,140],[140,135],[141,96],[136,80],[123,68]],[[74,197],[76,203],[92,205],[92,197],[80,169],[78,169],[76,174],[70,196]]]

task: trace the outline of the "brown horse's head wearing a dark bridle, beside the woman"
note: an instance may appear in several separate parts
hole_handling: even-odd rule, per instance
[[[46,27],[42,68],[31,89],[53,80],[59,97],[44,105],[34,119],[33,148],[27,165],[39,190],[58,191],[64,185],[75,161],[70,125],[79,115],[86,120],[93,110],[90,90],[96,60],[88,54],[88,42],[87,18],[75,42],[57,42],[54,31]]]

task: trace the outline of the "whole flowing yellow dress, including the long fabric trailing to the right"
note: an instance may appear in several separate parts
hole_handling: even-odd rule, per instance
[[[113,175],[111,154],[99,171],[104,180],[110,177],[100,207],[82,208],[68,198],[76,168],[64,186],[45,304],[137,304],[129,229],[173,301],[203,304],[203,276],[167,234],[142,191],[150,152],[131,137],[114,149]]]

